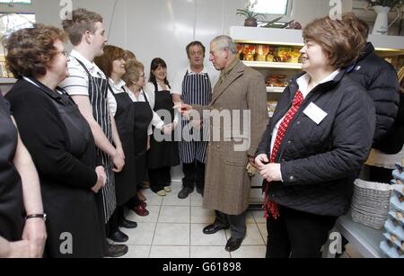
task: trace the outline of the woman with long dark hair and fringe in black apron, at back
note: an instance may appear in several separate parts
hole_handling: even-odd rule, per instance
[[[167,80],[167,65],[162,58],[154,58],[150,68],[149,85],[154,93],[154,112],[164,122],[162,132],[154,133],[150,138],[150,149],[147,153],[147,167],[152,191],[159,193],[171,191],[171,167],[180,164],[178,143],[174,141],[172,130],[175,129],[174,109],[170,85]],[[152,88],[153,87],[153,88]],[[167,116],[170,114],[170,116]],[[155,132],[155,131],[154,131]]]

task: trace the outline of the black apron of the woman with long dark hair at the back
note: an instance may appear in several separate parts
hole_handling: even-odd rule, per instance
[[[174,119],[172,95],[168,90],[158,91],[157,85],[154,85],[154,87],[154,111],[159,114],[164,124],[170,124]],[[161,111],[170,111],[171,118],[164,118]],[[156,141],[154,135],[150,138],[150,149],[147,152],[147,165],[149,169],[157,169],[163,166],[171,167],[180,164],[178,143],[174,141],[174,133],[164,135],[163,137],[162,141]]]

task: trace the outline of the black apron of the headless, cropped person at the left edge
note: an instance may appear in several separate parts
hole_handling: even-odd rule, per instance
[[[9,241],[22,239],[24,225],[22,183],[13,165],[18,143],[17,129],[0,92],[0,236]]]

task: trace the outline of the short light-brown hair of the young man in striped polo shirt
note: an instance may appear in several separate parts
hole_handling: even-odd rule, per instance
[[[72,13],[72,19],[66,19],[62,22],[63,30],[68,35],[73,46],[77,46],[82,42],[85,31],[94,33],[95,23],[102,22],[102,16],[98,13],[87,11],[86,9],[77,9]]]

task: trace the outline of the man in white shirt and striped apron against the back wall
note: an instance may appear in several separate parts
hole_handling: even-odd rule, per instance
[[[201,42],[190,42],[186,50],[189,67],[178,72],[174,78],[171,90],[173,102],[207,105],[211,101],[212,88],[215,86],[218,74],[214,70],[209,71],[204,67],[206,48]],[[188,124],[189,120],[181,120],[181,129]],[[189,137],[182,137],[179,144],[184,173],[182,190],[178,194],[180,199],[186,199],[194,191],[195,184],[201,195],[203,195],[205,187],[207,142],[203,140],[202,131],[201,135],[195,135],[192,131],[201,130],[191,129]]]

